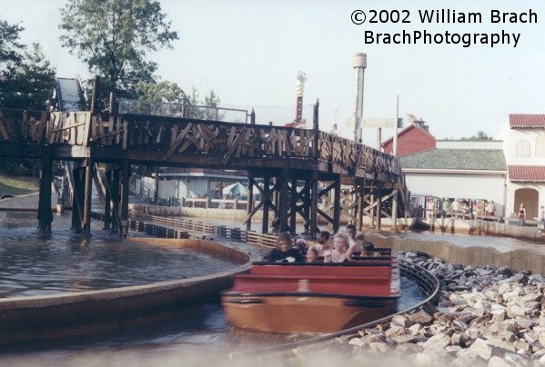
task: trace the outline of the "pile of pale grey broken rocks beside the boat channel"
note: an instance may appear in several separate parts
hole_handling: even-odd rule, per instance
[[[543,277],[506,267],[444,263],[425,253],[399,257],[438,276],[438,312],[420,310],[362,330],[342,341],[353,352],[399,355],[414,365],[545,364]]]

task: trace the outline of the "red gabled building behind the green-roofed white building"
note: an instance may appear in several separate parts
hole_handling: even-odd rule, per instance
[[[423,121],[415,121],[398,133],[398,155],[400,157],[429,151],[436,148],[436,140],[429,134],[428,125]],[[385,153],[392,154],[394,138],[389,138],[382,144]]]

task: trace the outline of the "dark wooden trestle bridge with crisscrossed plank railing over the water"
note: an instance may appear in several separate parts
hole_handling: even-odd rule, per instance
[[[253,113],[247,114],[247,123],[198,119],[187,108],[177,117],[119,113],[113,96],[105,113],[74,111],[83,105],[78,103],[66,111],[63,93],[62,83],[57,83],[57,112],[0,108],[0,156],[41,162],[38,220],[43,231],[50,231],[53,221],[54,161],[71,162],[72,226],[82,233],[90,232],[96,164],[106,166],[105,228],[126,228],[133,164],[247,171],[245,223],[250,230],[252,216],[262,210],[262,233],[269,232],[273,218],[279,230],[295,233],[299,215],[312,235],[318,230],[318,214],[337,231],[341,213],[359,229],[364,216],[380,227],[382,217],[396,223],[405,213],[409,198],[399,158],[319,131],[318,102],[312,129],[297,129],[255,124]],[[257,192],[261,201],[254,203]],[[347,197],[348,204],[341,203]],[[324,200],[330,211],[318,209]]]

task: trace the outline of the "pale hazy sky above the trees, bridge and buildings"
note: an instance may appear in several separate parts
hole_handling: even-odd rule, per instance
[[[67,0],[0,0],[0,17],[25,27],[21,40],[39,42],[57,75],[88,78],[86,65],[69,55],[58,37],[58,9]],[[509,114],[545,111],[545,2],[542,1],[340,1],[340,0],[161,0],[167,20],[179,40],[172,50],[148,55],[158,64],[162,80],[185,91],[219,95],[229,107],[267,106],[285,122],[295,117],[295,84],[305,72],[303,104],[320,103],[320,130],[345,126],[354,114],[357,72],[356,53],[365,53],[363,116],[391,118],[414,114],[429,124],[437,139],[460,138],[484,131],[500,132]],[[419,11],[449,9],[457,14],[479,12],[479,24],[422,23]],[[492,24],[491,10],[537,14],[535,23]],[[354,11],[366,22],[355,25]],[[410,23],[369,23],[373,11],[397,11]],[[394,12],[395,13],[395,12]],[[375,35],[403,31],[431,34],[520,34],[518,45],[385,45],[366,42],[366,31]],[[368,39],[367,39],[368,41]],[[265,110],[263,110],[265,111]],[[305,117],[311,120],[310,108]],[[293,112],[293,113],[292,113]],[[405,121],[407,124],[407,119]],[[392,129],[385,129],[388,138]],[[375,129],[363,130],[364,143],[376,146]]]

